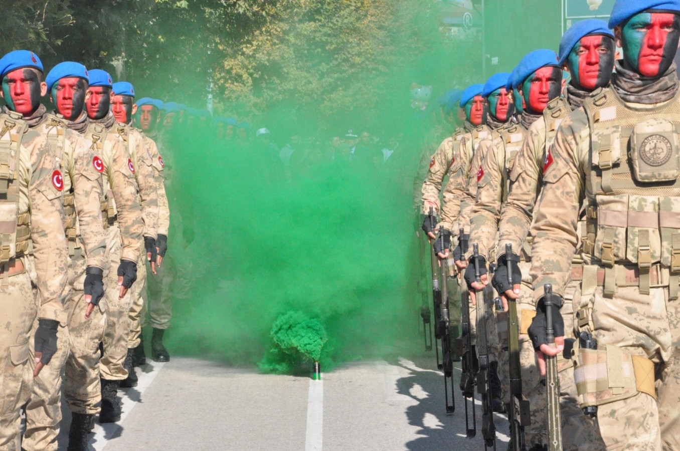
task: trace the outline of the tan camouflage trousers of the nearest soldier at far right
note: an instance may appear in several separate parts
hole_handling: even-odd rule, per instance
[[[607,450],[680,449],[680,301],[668,301],[664,287],[651,288],[649,295],[638,287],[617,287],[613,298],[597,287],[591,297],[598,347],[618,346],[651,359],[656,368],[658,402],[637,393],[598,407]]]

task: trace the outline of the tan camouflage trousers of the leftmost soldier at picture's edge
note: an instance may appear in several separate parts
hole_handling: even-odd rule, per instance
[[[22,259],[25,262],[27,259]],[[37,316],[31,278],[24,270],[0,274],[0,449],[18,451],[20,408],[31,396],[33,369],[29,338]]]

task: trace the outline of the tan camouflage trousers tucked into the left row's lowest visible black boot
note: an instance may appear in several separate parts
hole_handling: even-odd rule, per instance
[[[73,266],[79,268],[71,291],[69,304],[69,346],[71,352],[66,360],[64,397],[71,412],[77,414],[99,413],[101,390],[99,388],[99,342],[103,340],[106,314],[103,304],[95,307],[90,318],[85,318],[87,302],[83,283],[85,259],[75,259]]]

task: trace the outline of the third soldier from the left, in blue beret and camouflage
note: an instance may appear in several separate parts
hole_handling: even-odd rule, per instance
[[[120,420],[120,401],[116,393],[118,384],[128,376],[123,366],[127,355],[127,335],[130,329],[128,314],[131,296],[128,289],[137,279],[141,234],[144,229],[139,206],[139,189],[135,182],[135,165],[116,128],[125,124],[116,123],[110,110],[112,98],[111,75],[101,69],[88,71],[90,86],[86,103],[90,125],[87,133],[101,151],[104,167],[109,168],[105,187],[111,190],[107,208],[107,250],[111,268],[118,267],[118,278],[110,270],[105,291],[106,327],[103,339],[103,357],[99,363],[101,374],[101,410],[99,422]],[[113,168],[113,170],[111,170]],[[111,174],[113,173],[113,174]],[[107,186],[108,185],[108,186]],[[77,390],[73,396],[82,401],[91,396],[87,391]]]

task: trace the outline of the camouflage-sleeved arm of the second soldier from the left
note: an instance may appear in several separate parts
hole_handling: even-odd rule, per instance
[[[73,132],[69,137],[73,146],[73,161],[69,162],[69,175],[73,181],[75,213],[78,215],[87,266],[104,269],[106,257],[106,232],[101,218],[101,175],[95,169],[95,153],[86,146],[82,137]]]

